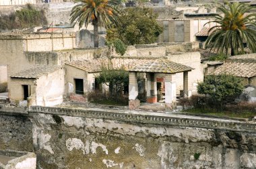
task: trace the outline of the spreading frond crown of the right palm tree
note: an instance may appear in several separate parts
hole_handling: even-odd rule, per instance
[[[209,30],[210,36],[205,42],[206,48],[217,50],[217,52],[231,50],[231,56],[244,53],[243,43],[251,52],[256,52],[256,13],[249,13],[254,7],[245,3],[218,4],[218,9],[223,14],[214,15],[214,20],[207,23],[216,23]],[[227,6],[226,6],[227,5]],[[207,24],[205,23],[205,24]]]

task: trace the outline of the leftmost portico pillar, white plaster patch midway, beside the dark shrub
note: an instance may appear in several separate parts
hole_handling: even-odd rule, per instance
[[[140,102],[138,96],[137,72],[129,72],[129,109],[136,109]]]

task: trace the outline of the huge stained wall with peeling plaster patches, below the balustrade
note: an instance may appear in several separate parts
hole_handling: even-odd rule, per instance
[[[33,114],[39,168],[255,168],[255,136]]]

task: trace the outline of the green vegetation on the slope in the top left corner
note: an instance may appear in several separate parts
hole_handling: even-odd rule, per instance
[[[24,29],[46,24],[47,19],[44,10],[38,11],[29,4],[25,8],[15,11],[15,13],[0,17],[1,30]]]

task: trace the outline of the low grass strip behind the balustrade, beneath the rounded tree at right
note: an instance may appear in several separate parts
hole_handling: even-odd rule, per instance
[[[253,113],[251,111],[243,111],[240,113],[232,112],[232,111],[216,111],[214,109],[187,109],[183,112],[186,113],[193,113],[196,115],[212,115],[212,116],[218,116],[218,117],[234,117],[234,118],[250,118],[256,116],[256,113]]]

